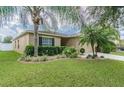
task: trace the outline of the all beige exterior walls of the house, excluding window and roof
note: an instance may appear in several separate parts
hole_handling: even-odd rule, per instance
[[[81,47],[85,49],[86,52],[91,52],[91,46],[90,45],[84,45],[81,46],[79,45],[79,37],[69,37],[69,38],[62,38],[59,36],[54,36],[54,35],[40,35],[39,37],[48,37],[48,38],[54,38],[54,46],[69,46],[69,47],[74,47],[77,50],[80,50]],[[39,38],[38,38],[39,39]],[[39,40],[38,40],[39,41]],[[34,45],[34,35],[33,33],[27,33],[24,34],[17,39],[13,40],[13,49],[17,52],[23,53],[25,50],[25,47],[27,45]]]

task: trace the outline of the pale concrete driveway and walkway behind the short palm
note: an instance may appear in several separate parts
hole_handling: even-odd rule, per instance
[[[92,55],[92,53],[85,53],[84,55],[82,55],[82,57],[86,57],[88,54]],[[98,56],[104,56],[104,58],[124,61],[124,56],[119,56],[119,55],[106,54],[106,53],[98,53]]]

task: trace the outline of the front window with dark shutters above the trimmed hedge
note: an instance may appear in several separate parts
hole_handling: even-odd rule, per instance
[[[54,38],[39,37],[39,45],[53,46]]]

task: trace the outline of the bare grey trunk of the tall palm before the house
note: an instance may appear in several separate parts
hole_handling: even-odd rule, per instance
[[[38,56],[38,24],[34,24],[34,56]]]

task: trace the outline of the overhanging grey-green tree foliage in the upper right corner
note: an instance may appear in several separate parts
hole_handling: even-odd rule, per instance
[[[124,7],[122,6],[92,6],[87,7],[87,11],[92,18],[96,19],[97,25],[118,27],[124,24]]]

